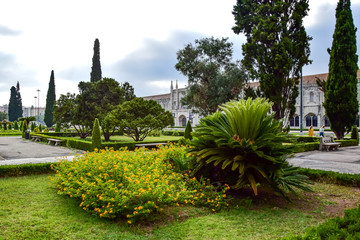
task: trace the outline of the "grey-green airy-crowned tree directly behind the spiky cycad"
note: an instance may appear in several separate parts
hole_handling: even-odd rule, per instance
[[[227,40],[203,38],[177,52],[175,68],[188,78],[182,104],[202,116],[236,99],[248,79],[242,66],[232,62],[232,43]]]

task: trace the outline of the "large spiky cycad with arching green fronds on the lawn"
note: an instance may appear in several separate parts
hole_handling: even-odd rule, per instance
[[[261,98],[231,101],[201,119],[189,149],[195,172],[235,189],[249,184],[255,195],[258,184],[283,196],[293,187],[310,190],[306,178],[288,168],[294,145],[283,144],[291,136],[268,114],[271,106]]]

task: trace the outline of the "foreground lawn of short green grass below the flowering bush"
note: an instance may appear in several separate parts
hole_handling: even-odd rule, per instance
[[[359,190],[317,183],[315,194],[293,203],[246,197],[219,213],[171,207],[155,222],[128,226],[90,215],[77,200],[57,195],[48,176],[0,179],[0,239],[276,239],[323,221],[342,198],[360,198]]]

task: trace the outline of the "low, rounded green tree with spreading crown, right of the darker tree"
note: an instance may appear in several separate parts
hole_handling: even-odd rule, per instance
[[[118,105],[110,114],[116,125],[135,141],[143,141],[154,129],[174,124],[174,117],[154,100],[134,98]]]

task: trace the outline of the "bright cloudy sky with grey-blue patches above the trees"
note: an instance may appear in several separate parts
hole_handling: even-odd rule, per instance
[[[310,0],[304,19],[311,65],[303,75],[328,72],[337,0]],[[129,82],[136,96],[170,92],[187,84],[175,69],[176,53],[195,39],[227,37],[242,59],[243,35],[235,34],[236,0],[0,0],[0,105],[19,81],[23,106],[46,104],[51,70],[56,97],[78,94],[90,81],[94,41],[100,41],[102,76]],[[352,1],[359,28],[360,0]],[[357,46],[360,46],[359,31]],[[358,51],[359,54],[359,51]],[[360,64],[359,64],[360,65]],[[40,91],[37,91],[40,90]],[[35,96],[39,99],[35,99]]]

